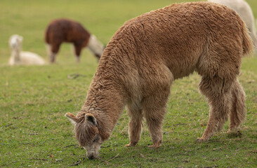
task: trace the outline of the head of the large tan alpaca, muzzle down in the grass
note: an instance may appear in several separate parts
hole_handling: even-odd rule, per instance
[[[95,117],[91,113],[83,113],[83,115],[79,116],[66,113],[65,116],[74,124],[75,137],[79,141],[79,145],[86,149],[87,158],[97,158],[103,140],[100,137]]]

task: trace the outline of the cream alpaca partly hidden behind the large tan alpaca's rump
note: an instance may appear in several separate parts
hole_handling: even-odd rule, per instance
[[[251,10],[251,7],[246,1],[244,0],[233,0],[233,1],[232,0],[208,0],[208,1],[220,3],[234,9],[238,13],[238,15],[242,18],[242,20],[244,20],[246,27],[249,30],[249,34],[251,36],[253,44],[255,45],[255,48],[257,47],[257,36],[256,36],[253,11]]]

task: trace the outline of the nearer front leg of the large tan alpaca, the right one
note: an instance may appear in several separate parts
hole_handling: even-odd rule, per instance
[[[152,138],[152,146],[148,146],[150,148],[159,148],[162,144],[162,122],[166,113],[171,83],[174,80],[169,68],[162,64],[159,65],[153,76],[147,76],[151,79],[147,83],[148,88],[154,89],[148,90],[148,96],[142,101],[143,114]]]

